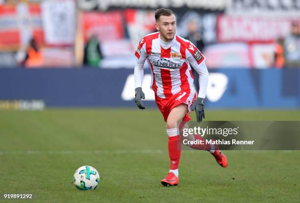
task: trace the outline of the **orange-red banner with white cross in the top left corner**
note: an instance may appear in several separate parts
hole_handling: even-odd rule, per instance
[[[44,43],[40,5],[0,5],[0,51],[16,51],[32,37]]]

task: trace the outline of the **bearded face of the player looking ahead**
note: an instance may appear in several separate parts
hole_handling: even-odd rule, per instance
[[[176,32],[176,18],[175,15],[160,16],[155,23],[156,29],[160,33],[160,38],[165,42],[170,42],[174,39]]]

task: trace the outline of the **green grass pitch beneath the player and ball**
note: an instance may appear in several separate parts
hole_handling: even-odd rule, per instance
[[[206,120],[300,120],[300,111],[283,110],[205,115]],[[300,151],[225,151],[224,169],[208,152],[185,150],[179,185],[163,187],[167,139],[157,109],[1,111],[0,194],[30,193],[42,203],[300,201]],[[72,183],[82,165],[99,171],[96,190],[80,191]]]

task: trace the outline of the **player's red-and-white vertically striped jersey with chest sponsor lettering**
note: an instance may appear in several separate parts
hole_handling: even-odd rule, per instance
[[[160,39],[159,32],[151,33],[140,41],[135,56],[138,66],[143,67],[148,61],[152,72],[151,88],[158,97],[170,98],[181,90],[194,94],[191,66],[200,72],[205,57],[190,41],[175,35],[174,40],[166,43]]]

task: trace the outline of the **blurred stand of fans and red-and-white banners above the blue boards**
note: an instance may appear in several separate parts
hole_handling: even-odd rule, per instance
[[[80,2],[2,2],[0,68],[133,68],[139,40],[155,31],[155,9],[82,9]],[[234,9],[175,8],[176,34],[200,49],[208,68],[300,68],[300,14],[290,15],[293,7],[280,16]]]

